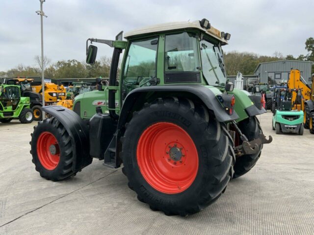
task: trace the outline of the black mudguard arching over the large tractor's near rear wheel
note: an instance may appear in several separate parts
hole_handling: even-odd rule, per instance
[[[152,86],[152,87],[142,87],[132,90],[126,97],[121,112],[118,123],[118,129],[120,129],[126,122],[128,114],[130,113],[136,99],[140,94],[149,93],[149,92],[158,92],[158,93],[171,93],[184,92],[190,93],[198,98],[200,98],[208,109],[212,110],[215,114],[215,117],[220,122],[226,122],[235,120],[238,115],[234,112],[232,115],[229,115],[218,101],[216,94],[214,94],[210,89],[202,85],[167,85],[167,86]]]

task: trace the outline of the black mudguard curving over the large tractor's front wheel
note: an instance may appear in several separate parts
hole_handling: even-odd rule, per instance
[[[89,131],[87,124],[72,110],[63,106],[42,107],[43,111],[57,118],[69,133],[73,145],[73,170],[78,171],[92,163],[89,156]]]

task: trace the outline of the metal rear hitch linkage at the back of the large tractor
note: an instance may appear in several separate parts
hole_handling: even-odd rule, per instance
[[[264,134],[260,134],[259,137],[253,141],[249,141],[245,135],[241,132],[240,128],[237,126],[235,120],[232,121],[232,124],[235,127],[235,130],[240,136],[240,139],[243,141],[241,145],[235,146],[235,156],[240,157],[246,154],[255,154],[258,153],[261,149],[260,146],[264,143],[270,143],[273,141],[271,136],[266,139]]]

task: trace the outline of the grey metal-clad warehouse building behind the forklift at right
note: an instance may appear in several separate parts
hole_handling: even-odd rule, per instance
[[[280,84],[288,81],[290,70],[301,71],[302,77],[308,82],[311,81],[312,61],[300,60],[278,60],[260,63],[254,74],[260,78],[262,83]]]

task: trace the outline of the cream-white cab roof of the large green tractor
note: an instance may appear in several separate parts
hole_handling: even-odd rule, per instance
[[[132,31],[129,31],[125,34],[125,38],[129,39],[133,36],[138,35],[145,35],[145,34],[151,34],[151,33],[157,33],[157,32],[167,32],[167,31],[173,31],[177,29],[198,29],[202,31],[203,33],[206,33],[216,39],[218,39],[222,45],[228,44],[227,40],[225,40],[223,37],[221,37],[221,32],[210,26],[209,29],[205,29],[201,26],[200,21],[193,21],[193,22],[173,22],[173,23],[165,23],[165,24],[156,24],[151,26],[146,26],[138,29],[134,29]]]

